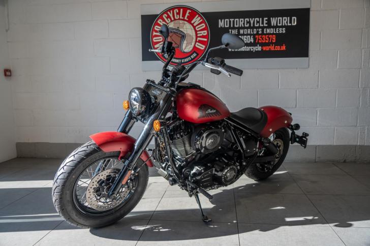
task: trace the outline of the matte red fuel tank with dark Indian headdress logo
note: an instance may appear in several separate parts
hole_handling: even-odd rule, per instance
[[[218,121],[230,116],[225,103],[202,89],[183,89],[176,97],[178,117],[195,124]]]

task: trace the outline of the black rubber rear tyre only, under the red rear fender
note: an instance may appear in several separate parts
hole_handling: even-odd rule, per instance
[[[275,139],[281,139],[284,143],[283,153],[281,154],[280,159],[272,166],[271,169],[267,171],[261,171],[261,168],[259,167],[259,165],[264,165],[264,163],[252,163],[245,171],[245,175],[248,176],[248,178],[255,181],[265,180],[283,164],[290,145],[290,135],[288,129],[281,128],[275,131]]]

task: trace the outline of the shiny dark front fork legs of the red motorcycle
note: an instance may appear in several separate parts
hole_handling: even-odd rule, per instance
[[[140,155],[142,152],[146,149],[146,147],[149,145],[151,139],[153,138],[153,135],[155,133],[153,129],[153,122],[155,120],[163,120],[174,100],[174,95],[171,93],[172,91],[169,91],[166,93],[166,95],[161,100],[159,106],[155,110],[155,112],[147,119],[145,126],[140,133],[139,137],[136,139],[136,142],[134,144],[134,149],[131,152],[130,156],[124,161],[124,166],[119,171],[117,178],[115,179],[113,185],[111,186],[108,196],[112,196],[117,193],[117,191],[120,190],[122,187],[122,181],[126,177],[131,163],[136,163],[137,160],[140,158]],[[119,132],[129,133],[132,126],[136,122],[132,112],[129,110],[124,120],[122,120],[120,126],[118,127]]]

